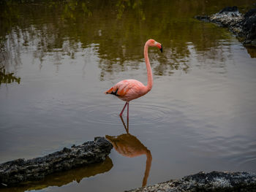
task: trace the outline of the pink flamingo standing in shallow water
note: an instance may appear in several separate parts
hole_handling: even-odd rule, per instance
[[[153,85],[152,71],[148,59],[148,47],[158,47],[162,52],[162,45],[159,42],[156,42],[154,39],[148,39],[144,46],[144,58],[148,72],[148,85],[145,86],[142,82],[139,82],[138,80],[121,80],[105,92],[106,94],[113,94],[119,99],[126,101],[126,103],[124,104],[124,108],[123,110],[121,110],[121,113],[119,115],[121,117],[123,115],[125,107],[127,107],[127,120],[129,119],[129,101],[145,95],[146,93],[148,93],[148,91],[151,91]]]

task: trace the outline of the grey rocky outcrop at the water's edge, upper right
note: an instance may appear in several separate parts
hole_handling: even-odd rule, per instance
[[[242,14],[236,6],[225,7],[214,15],[197,15],[195,18],[227,27],[244,45],[256,46],[256,9]]]

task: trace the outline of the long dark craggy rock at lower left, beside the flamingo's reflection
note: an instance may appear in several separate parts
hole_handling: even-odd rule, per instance
[[[94,142],[73,145],[71,148],[64,147],[63,150],[43,157],[8,161],[0,164],[0,187],[42,180],[53,172],[104,161],[112,147],[104,137],[95,137]]]

